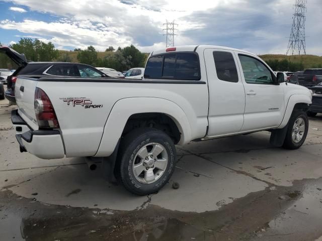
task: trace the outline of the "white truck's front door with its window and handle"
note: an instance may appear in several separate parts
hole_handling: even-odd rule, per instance
[[[273,83],[274,74],[259,58],[235,53],[246,92],[244,131],[278,127],[284,116],[282,85]]]

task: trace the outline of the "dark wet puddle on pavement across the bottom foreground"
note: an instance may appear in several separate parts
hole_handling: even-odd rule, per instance
[[[49,205],[1,191],[0,234],[33,241],[315,240],[322,235],[322,178],[293,184],[270,186],[203,213],[154,205],[133,211]]]

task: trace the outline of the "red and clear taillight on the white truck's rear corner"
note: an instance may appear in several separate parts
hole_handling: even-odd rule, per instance
[[[36,87],[35,91],[35,113],[39,128],[59,128],[54,107],[47,94]]]

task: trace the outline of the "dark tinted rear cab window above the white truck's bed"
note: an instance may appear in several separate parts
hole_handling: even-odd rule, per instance
[[[144,78],[200,80],[198,54],[178,52],[152,56],[147,60]]]

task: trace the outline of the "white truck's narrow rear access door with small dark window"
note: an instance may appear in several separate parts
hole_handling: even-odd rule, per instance
[[[208,137],[238,133],[243,127],[245,90],[233,51],[205,49],[209,87]]]

